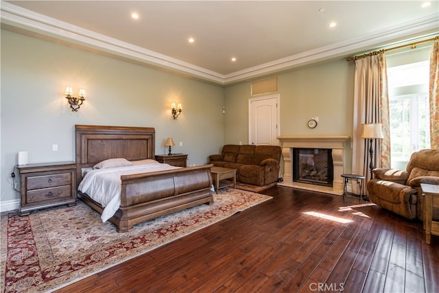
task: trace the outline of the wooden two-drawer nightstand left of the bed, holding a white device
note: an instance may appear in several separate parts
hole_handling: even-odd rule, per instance
[[[36,209],[76,204],[76,163],[57,162],[17,166],[20,172],[20,215]]]

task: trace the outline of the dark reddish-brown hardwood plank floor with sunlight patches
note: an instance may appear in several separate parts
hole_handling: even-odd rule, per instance
[[[289,187],[59,292],[438,292],[439,237],[359,200]],[[313,213],[305,213],[313,212]]]

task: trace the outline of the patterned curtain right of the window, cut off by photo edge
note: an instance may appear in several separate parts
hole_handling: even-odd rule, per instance
[[[432,149],[439,149],[439,37],[434,39],[430,56],[430,143]]]

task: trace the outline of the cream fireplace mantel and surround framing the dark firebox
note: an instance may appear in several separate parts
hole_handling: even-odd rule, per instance
[[[333,194],[343,193],[342,174],[344,173],[344,143],[350,139],[346,135],[322,136],[322,137],[278,137],[282,143],[283,155],[283,184],[287,186],[293,185],[293,148],[322,148],[332,150],[332,159],[334,165],[334,179],[332,188],[322,188],[318,185],[307,184],[308,188],[317,191],[329,191]],[[303,184],[298,184],[300,188]]]

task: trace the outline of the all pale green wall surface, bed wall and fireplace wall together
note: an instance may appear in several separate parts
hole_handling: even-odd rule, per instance
[[[276,75],[281,136],[352,133],[353,62],[343,58]],[[87,91],[73,113],[65,86]],[[189,165],[206,163],[224,143],[248,143],[250,82],[224,89],[209,83],[134,65],[14,32],[1,31],[1,200],[17,202],[10,174],[17,153],[29,163],[74,161],[75,124],[156,128],[156,153],[167,137],[173,152],[189,154]],[[171,102],[182,115],[171,118]],[[222,106],[226,113],[222,114]],[[319,117],[317,128],[307,121]],[[58,144],[58,152],[52,145]],[[351,166],[351,143],[345,159]]]

